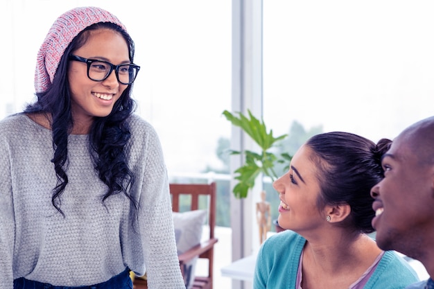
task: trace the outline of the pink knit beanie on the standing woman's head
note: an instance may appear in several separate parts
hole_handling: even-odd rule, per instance
[[[73,38],[86,27],[98,22],[112,22],[126,30],[125,26],[123,26],[116,16],[96,7],[74,8],[58,17],[53,26],[51,26],[37,53],[35,70],[36,92],[46,91],[51,83],[53,83],[60,58],[62,58],[65,49],[67,49]]]

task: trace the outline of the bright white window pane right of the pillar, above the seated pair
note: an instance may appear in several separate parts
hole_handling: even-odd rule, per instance
[[[396,137],[434,112],[433,1],[263,1],[270,128]]]

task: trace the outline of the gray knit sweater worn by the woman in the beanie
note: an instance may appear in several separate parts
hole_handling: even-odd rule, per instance
[[[104,207],[107,187],[94,170],[87,135],[68,139],[63,217],[51,204],[57,182],[51,130],[24,114],[0,122],[0,289],[12,289],[19,277],[91,285],[126,267],[139,275],[146,271],[149,288],[184,288],[162,148],[149,123],[138,116],[129,123],[126,152],[138,220],[123,194],[108,198]]]

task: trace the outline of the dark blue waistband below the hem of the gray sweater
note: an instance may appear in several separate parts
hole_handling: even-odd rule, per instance
[[[128,268],[117,274],[111,279],[90,286],[53,286],[51,284],[42,283],[38,281],[31,281],[25,278],[14,280],[14,289],[125,289],[132,288],[132,281],[130,279],[130,270]]]

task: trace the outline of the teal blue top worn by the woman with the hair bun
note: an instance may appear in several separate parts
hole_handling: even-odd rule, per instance
[[[296,289],[297,270],[306,239],[294,231],[268,238],[257,256],[254,289]],[[364,289],[402,289],[419,281],[408,263],[394,252],[385,252]]]

